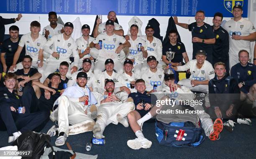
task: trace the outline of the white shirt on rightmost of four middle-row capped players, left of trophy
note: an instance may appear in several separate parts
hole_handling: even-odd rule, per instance
[[[164,83],[164,70],[157,69],[154,73],[148,68],[146,72],[141,75],[141,78],[146,83],[146,91],[151,91],[155,84],[157,85],[157,91],[161,91]]]

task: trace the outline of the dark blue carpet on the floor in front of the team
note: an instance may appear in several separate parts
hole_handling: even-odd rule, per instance
[[[256,119],[252,119],[252,126],[235,124],[233,133],[223,129],[218,141],[205,141],[196,148],[167,147],[158,144],[156,140],[154,123],[143,125],[144,136],[152,141],[150,149],[130,149],[126,142],[135,139],[130,127],[110,124],[106,127],[105,145],[92,145],[91,151],[85,150],[85,145],[92,139],[92,132],[69,136],[67,141],[76,152],[96,155],[99,159],[169,159],[169,158],[255,158],[256,156]],[[49,121],[42,132],[46,133],[54,123]],[[204,134],[204,133],[203,133]],[[56,136],[51,138],[54,145]],[[8,146],[6,131],[0,131],[0,147]],[[67,149],[67,146],[59,146]]]

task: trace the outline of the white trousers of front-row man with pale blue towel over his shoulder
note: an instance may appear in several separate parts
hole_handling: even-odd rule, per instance
[[[58,98],[58,124],[59,132],[64,132],[68,135],[74,135],[92,131],[95,121],[90,116],[84,114],[84,106],[82,103],[74,103],[67,96]],[[69,126],[72,124],[72,126]]]

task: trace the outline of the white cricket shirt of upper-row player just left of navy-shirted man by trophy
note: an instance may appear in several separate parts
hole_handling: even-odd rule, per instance
[[[157,61],[161,61],[163,48],[161,40],[159,38],[153,37],[153,41],[150,43],[146,35],[142,36],[142,38],[146,41],[148,57],[155,56]]]

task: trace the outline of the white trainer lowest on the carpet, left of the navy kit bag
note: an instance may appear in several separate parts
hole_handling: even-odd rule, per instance
[[[147,149],[147,148],[151,147],[152,142],[149,141],[148,139],[146,139],[145,137],[138,137],[138,138],[133,139],[133,140],[128,140],[127,145],[131,149],[140,149],[140,148]]]

